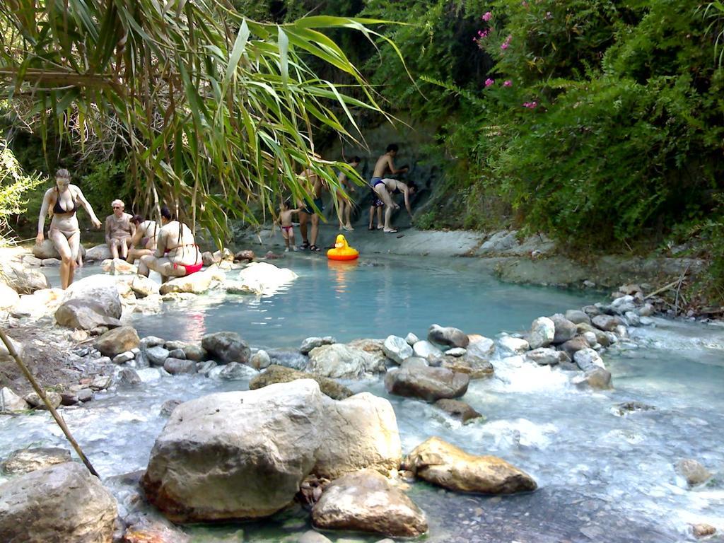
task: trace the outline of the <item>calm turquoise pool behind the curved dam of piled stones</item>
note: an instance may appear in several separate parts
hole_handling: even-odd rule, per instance
[[[198,340],[238,332],[256,347],[298,346],[305,337],[426,336],[433,323],[492,336],[600,299],[599,294],[505,285],[473,258],[376,258],[358,263],[290,255],[274,261],[299,278],[274,296],[211,295],[139,317],[139,334]],[[234,277],[237,272],[230,272]]]

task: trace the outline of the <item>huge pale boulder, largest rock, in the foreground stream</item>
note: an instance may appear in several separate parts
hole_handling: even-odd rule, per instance
[[[311,379],[222,392],[178,405],[141,481],[172,521],[259,518],[285,508],[303,479],[399,465],[392,406],[337,401]]]

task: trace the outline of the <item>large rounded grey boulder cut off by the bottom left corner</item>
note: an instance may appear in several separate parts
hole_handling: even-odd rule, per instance
[[[22,543],[110,543],[115,498],[79,463],[32,471],[0,486],[0,534]]]

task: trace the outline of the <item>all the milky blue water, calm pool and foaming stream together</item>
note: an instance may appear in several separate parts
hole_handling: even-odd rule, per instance
[[[277,263],[300,277],[274,296],[209,295],[132,324],[142,336],[167,340],[231,330],[255,348],[294,348],[310,335],[334,335],[340,342],[407,332],[424,337],[434,322],[494,337],[522,331],[537,316],[603,299],[504,285],[476,259],[378,258],[337,266],[294,255]],[[724,328],[655,322],[631,329],[631,341],[604,355],[613,373],[610,392],[577,390],[565,372],[547,366],[494,361],[494,377],[471,382],[463,397],[487,420],[464,426],[425,403],[390,397],[380,379],[345,383],[390,400],[404,452],[438,435],[468,452],[501,456],[538,482],[536,492],[510,497],[414,484],[409,494],[430,523],[426,541],[666,543],[690,540],[689,523],[723,531]],[[64,416],[105,479],[145,468],[167,420],[159,415],[165,400],[246,388],[246,382],[220,384],[201,376],[161,378],[96,395]],[[619,413],[617,405],[628,401],[654,409]],[[0,450],[30,445],[66,446],[46,413],[0,418]],[[673,470],[681,458],[699,460],[715,476],[686,489]],[[306,526],[306,515],[292,511],[266,523],[189,531],[199,543],[280,542]],[[327,535],[345,542],[380,539]]]

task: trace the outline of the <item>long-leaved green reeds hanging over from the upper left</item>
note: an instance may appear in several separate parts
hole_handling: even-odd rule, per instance
[[[8,0],[0,85],[22,116],[81,148],[122,143],[139,201],[186,204],[192,222],[221,235],[227,214],[248,217],[252,201],[271,210],[282,192],[308,199],[303,168],[336,183],[316,131],[354,140],[353,109],[382,109],[322,30],[369,36],[376,22],[259,23],[227,0]],[[362,99],[319,77],[310,59],[344,73]]]

